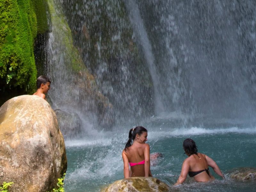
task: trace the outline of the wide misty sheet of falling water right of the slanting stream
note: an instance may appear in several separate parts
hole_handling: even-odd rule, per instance
[[[248,44],[255,42],[253,2],[170,0],[138,4],[155,45],[160,82],[171,101],[165,104],[171,111],[253,118],[255,45]]]

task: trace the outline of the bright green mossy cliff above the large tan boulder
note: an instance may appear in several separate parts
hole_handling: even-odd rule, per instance
[[[9,93],[36,90],[34,39],[48,30],[44,0],[0,0],[0,20],[0,92],[6,97],[0,100],[6,100]]]

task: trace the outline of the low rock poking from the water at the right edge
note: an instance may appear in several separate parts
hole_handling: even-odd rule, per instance
[[[256,180],[256,168],[241,167],[230,173],[231,179],[237,180]]]

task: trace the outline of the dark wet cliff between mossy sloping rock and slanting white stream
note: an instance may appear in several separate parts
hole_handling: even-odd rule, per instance
[[[153,83],[124,2],[56,1],[84,64],[113,104],[116,119],[151,116]]]

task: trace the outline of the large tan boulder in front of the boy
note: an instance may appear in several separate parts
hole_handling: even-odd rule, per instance
[[[0,108],[0,183],[9,191],[46,192],[67,170],[63,136],[49,103],[34,95],[14,97]]]

